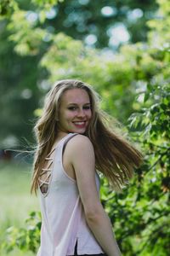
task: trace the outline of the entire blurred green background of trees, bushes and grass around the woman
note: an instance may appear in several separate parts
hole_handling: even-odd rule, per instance
[[[144,154],[121,195],[102,180],[122,254],[169,255],[169,27],[167,0],[1,0],[0,255],[37,252],[32,128],[59,79],[92,84]]]

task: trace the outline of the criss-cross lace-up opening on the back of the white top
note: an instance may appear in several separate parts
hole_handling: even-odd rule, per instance
[[[53,172],[54,150],[55,148],[53,148],[45,158],[45,163],[44,163],[44,167],[42,168],[42,173],[38,178],[39,188],[43,196],[48,195],[48,189],[49,189],[50,181],[52,178],[52,172]]]

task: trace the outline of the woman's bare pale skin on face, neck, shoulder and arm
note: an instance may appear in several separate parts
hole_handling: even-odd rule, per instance
[[[60,105],[61,129],[54,144],[69,132],[79,133],[65,147],[63,166],[65,172],[77,180],[86,221],[99,245],[108,256],[120,256],[110,218],[99,200],[95,181],[94,147],[88,137],[82,135],[92,116],[89,104],[89,96],[85,90],[71,89],[64,93]],[[72,105],[75,106],[74,110],[69,109]],[[83,121],[84,124],[78,125],[78,122]]]

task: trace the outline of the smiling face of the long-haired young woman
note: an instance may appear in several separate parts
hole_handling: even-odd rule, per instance
[[[59,131],[83,134],[91,117],[88,92],[78,88],[65,90],[59,108]]]

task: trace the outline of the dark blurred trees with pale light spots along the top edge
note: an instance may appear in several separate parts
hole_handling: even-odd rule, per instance
[[[156,1],[64,1],[64,0],[2,0],[0,10],[2,17],[10,17],[14,6],[39,15],[44,27],[51,26],[57,32],[84,40],[89,34],[97,37],[95,46],[107,47],[111,37],[109,29],[116,25],[127,28],[133,43],[146,40],[148,27],[146,21],[157,9]],[[102,12],[110,7],[111,14]],[[54,12],[55,15],[48,15]],[[105,14],[104,14],[105,13]]]

